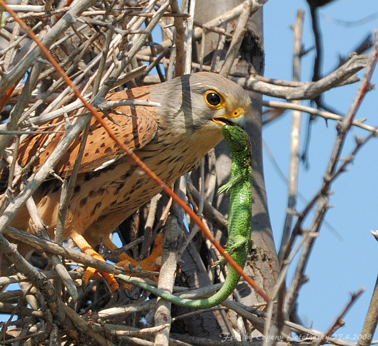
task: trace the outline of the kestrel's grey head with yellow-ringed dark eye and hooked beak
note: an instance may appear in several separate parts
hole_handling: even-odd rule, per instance
[[[251,104],[242,87],[210,72],[184,75],[156,85],[152,101],[161,103],[160,112],[169,129],[201,129],[219,135],[223,125],[243,127]]]

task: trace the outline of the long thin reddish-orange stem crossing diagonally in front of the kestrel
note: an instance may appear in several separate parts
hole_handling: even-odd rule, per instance
[[[45,45],[38,39],[38,37],[34,34],[34,32],[26,25],[26,23],[20,19],[17,14],[6,5],[4,0],[0,0],[0,5],[7,11],[14,20],[28,33],[28,35],[33,39],[33,41],[40,47],[42,52],[45,54],[47,60],[54,66],[55,70],[59,73],[59,75],[63,78],[64,82],[72,88],[74,94],[83,102],[84,106],[92,113],[92,115],[96,118],[96,120],[104,127],[104,129],[108,132],[108,135],[126,152],[127,155],[144,171],[147,173],[149,177],[155,180],[162,189],[172,197],[172,199],[193,219],[193,221],[201,228],[204,232],[206,237],[210,240],[210,242],[216,247],[219,253],[227,260],[230,265],[251,285],[251,287],[266,301],[269,302],[268,295],[256,284],[256,282],[250,278],[232,258],[228,255],[222,246],[216,241],[213,234],[205,227],[203,222],[201,221],[200,217],[194,213],[189,206],[185,204],[185,202],[178,197],[172,189],[164,182],[158,175],[156,175],[147,165],[132,151],[130,151],[123,142],[117,138],[117,136],[112,132],[110,127],[106,124],[106,122],[102,118],[102,114],[98,112],[81,94],[80,90],[72,83],[70,78],[66,75],[64,70],[59,66],[59,64],[54,59],[53,55],[50,51],[45,47]]]

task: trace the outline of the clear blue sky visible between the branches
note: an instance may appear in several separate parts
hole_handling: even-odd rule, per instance
[[[265,76],[291,80],[293,33],[290,29],[295,21],[298,8],[305,10],[303,43],[306,49],[314,45],[311,18],[305,0],[270,0],[264,7]],[[335,0],[319,11],[323,32],[324,65],[323,75],[338,64],[339,55],[348,55],[373,28],[378,27],[377,0]],[[372,16],[374,15],[375,16]],[[339,21],[355,22],[367,16],[362,25],[341,25]],[[337,22],[336,22],[337,20]],[[314,53],[302,59],[302,81],[311,81]],[[362,72],[363,73],[363,72]],[[362,76],[362,73],[359,76]],[[372,82],[377,82],[377,71]],[[325,102],[345,114],[355,95],[358,84],[339,87],[325,93]],[[268,99],[268,97],[264,97]],[[309,105],[308,101],[303,102]],[[366,124],[378,125],[377,90],[368,93],[356,119],[367,118]],[[307,127],[308,115],[303,115],[301,149]],[[291,113],[286,112],[280,119],[268,124],[263,130],[263,139],[270,148],[280,170],[287,176]],[[312,126],[309,147],[308,170],[303,165],[299,172],[299,191],[310,200],[322,183],[325,167],[335,139],[335,123],[328,126],[321,118]],[[368,135],[361,129],[353,129],[343,148],[346,156],[354,147],[355,135]],[[337,334],[352,342],[354,335],[361,332],[365,315],[372,297],[378,274],[378,243],[370,230],[378,229],[378,142],[368,142],[349,166],[349,172],[342,174],[332,185],[334,194],[330,204],[335,208],[326,213],[326,220],[337,234],[323,224],[316,240],[306,274],[309,282],[300,290],[299,316],[303,323],[320,331],[326,331],[349,301],[350,293],[360,287],[366,289],[362,297],[345,316],[345,326]],[[286,209],[287,185],[280,178],[271,159],[264,151],[264,171],[274,240],[279,244]],[[305,204],[299,200],[298,211]],[[312,220],[308,217],[305,225]],[[295,264],[295,263],[294,263]],[[292,266],[294,268],[294,266]],[[375,339],[378,338],[376,333]]]

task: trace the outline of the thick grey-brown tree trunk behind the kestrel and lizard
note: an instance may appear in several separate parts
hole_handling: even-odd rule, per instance
[[[206,23],[223,14],[226,11],[236,7],[243,1],[241,0],[197,0],[195,9],[195,20]],[[232,21],[227,25],[227,32],[232,33],[236,27],[237,22]],[[238,58],[232,68],[232,72],[239,73],[253,73],[263,75],[264,72],[264,51],[263,51],[263,18],[262,10],[253,14],[248,23],[248,30],[244,36]],[[219,35],[216,33],[207,33],[205,37],[205,54],[204,64],[211,65],[215,48],[217,46]],[[217,69],[220,68],[221,62],[227,52],[230,39],[226,39],[223,49],[217,54],[220,56],[220,63]],[[197,58],[200,59],[201,43],[195,47],[197,49]],[[195,59],[194,54],[193,59]],[[249,133],[252,141],[252,162],[253,162],[253,232],[250,257],[244,270],[251,276],[257,284],[262,287],[268,294],[271,292],[277,272],[278,260],[274,248],[273,236],[270,227],[270,219],[268,213],[267,196],[264,183],[263,159],[262,159],[262,106],[261,95],[251,92],[252,107],[250,113],[247,115],[246,130]],[[228,155],[228,149],[224,141],[216,147],[216,173],[218,186],[222,185],[229,179],[229,168],[231,160]],[[218,197],[215,201],[218,210],[222,214],[227,214],[228,211],[228,197],[224,194]],[[188,256],[189,257],[189,256]],[[186,259],[188,261],[188,259]],[[253,305],[255,303],[263,302],[263,299],[256,294],[247,284],[238,286],[238,291],[242,303],[246,305]],[[228,316],[231,319],[233,327],[235,327],[234,318],[232,315]],[[206,325],[205,325],[206,321]],[[215,321],[218,330],[215,328]],[[199,324],[202,328],[199,329]],[[229,332],[224,323],[222,315],[219,313],[206,313],[187,319],[185,323],[186,331],[196,330],[196,334],[203,337],[217,337],[221,332]],[[209,328],[211,326],[211,328]],[[195,328],[195,329],[194,329]]]

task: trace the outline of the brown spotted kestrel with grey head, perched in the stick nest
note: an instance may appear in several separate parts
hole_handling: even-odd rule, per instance
[[[116,91],[106,97],[107,101],[125,99],[160,104],[117,106],[104,113],[103,118],[124,144],[167,184],[196,168],[202,157],[222,139],[223,125],[245,123],[244,116],[251,102],[241,86],[210,72]],[[62,120],[54,122],[58,124]],[[19,165],[24,167],[33,158],[35,171],[49,157],[63,134],[55,133],[53,139],[48,134],[38,134],[22,142],[18,148]],[[55,174],[70,175],[80,140],[81,137],[77,138],[68,148],[57,163]],[[43,146],[44,151],[40,151]],[[38,158],[35,157],[37,152]],[[110,233],[161,190],[162,187],[147,176],[92,118],[66,214],[64,238],[72,238],[82,251],[92,256],[96,254],[92,247],[102,240],[109,250],[113,250],[115,245],[109,240]],[[53,239],[60,192],[61,179],[52,176],[33,195],[39,215]],[[11,225],[33,233],[26,207],[20,210]]]

